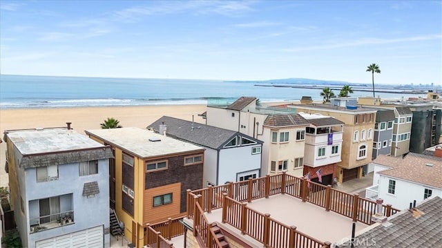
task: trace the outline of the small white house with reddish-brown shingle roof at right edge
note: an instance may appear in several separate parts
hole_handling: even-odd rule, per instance
[[[434,155],[408,153],[404,157],[379,155],[374,164],[373,186],[367,198],[382,198],[401,209],[432,195],[442,197],[442,147]]]

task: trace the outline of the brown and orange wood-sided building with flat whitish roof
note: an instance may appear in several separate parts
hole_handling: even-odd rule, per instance
[[[113,149],[110,178],[115,213],[124,236],[135,247],[146,245],[147,224],[183,216],[186,190],[203,186],[204,148],[200,146],[143,128],[85,132]]]

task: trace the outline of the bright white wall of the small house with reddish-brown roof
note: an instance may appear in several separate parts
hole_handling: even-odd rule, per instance
[[[390,179],[396,181],[394,195],[388,193]],[[384,204],[392,204],[392,207],[396,209],[407,209],[413,200],[416,200],[416,204],[422,202],[424,200],[423,195],[425,189],[431,189],[432,196],[439,195],[442,197],[442,189],[436,189],[416,182],[390,178],[385,175],[380,175],[379,177],[379,198],[384,200]]]

